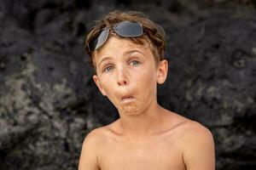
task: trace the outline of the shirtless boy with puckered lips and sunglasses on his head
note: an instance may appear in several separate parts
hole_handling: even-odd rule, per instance
[[[207,127],[157,102],[168,70],[160,26],[137,12],[114,11],[96,22],[85,43],[93,79],[119,119],[86,136],[79,170],[215,169]]]

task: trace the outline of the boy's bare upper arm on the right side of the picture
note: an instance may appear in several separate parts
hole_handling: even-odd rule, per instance
[[[214,170],[215,150],[212,133],[195,123],[185,138],[183,161],[187,170]]]

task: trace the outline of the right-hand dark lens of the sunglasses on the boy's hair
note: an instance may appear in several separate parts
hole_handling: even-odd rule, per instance
[[[143,26],[137,22],[123,21],[114,26],[113,29],[122,37],[140,37],[143,35]]]

